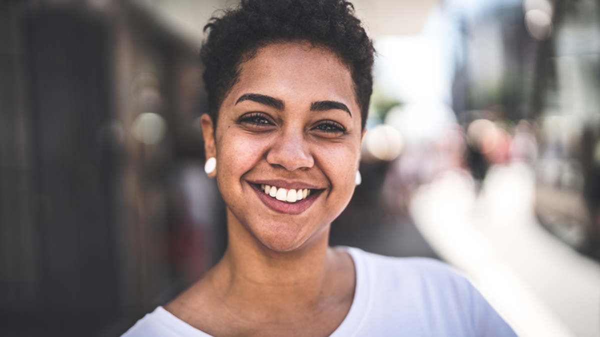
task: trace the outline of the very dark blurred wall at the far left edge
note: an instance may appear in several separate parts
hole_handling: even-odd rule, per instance
[[[2,335],[91,335],[119,305],[109,25],[0,6]]]

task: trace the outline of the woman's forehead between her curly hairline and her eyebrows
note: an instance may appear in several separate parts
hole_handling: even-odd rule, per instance
[[[292,98],[343,100],[358,109],[346,63],[331,50],[303,41],[268,44],[244,62],[239,79],[225,101],[236,100],[248,92],[284,101]],[[356,113],[359,114],[359,110]]]

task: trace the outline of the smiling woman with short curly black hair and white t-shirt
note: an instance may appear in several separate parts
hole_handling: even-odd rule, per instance
[[[514,336],[442,263],[328,246],[359,180],[372,85],[352,5],[246,0],[207,28],[205,169],[229,243],[124,336]]]

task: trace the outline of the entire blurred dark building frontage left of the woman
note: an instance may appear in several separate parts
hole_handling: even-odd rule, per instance
[[[197,50],[134,2],[0,16],[0,335],[119,335],[224,249]]]

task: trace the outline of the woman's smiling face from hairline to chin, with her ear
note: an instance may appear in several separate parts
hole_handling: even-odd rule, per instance
[[[205,115],[230,230],[275,251],[328,235],[352,197],[362,139],[352,77],[334,53],[301,42],[263,47],[242,64],[210,128]],[[294,202],[303,189],[309,195]]]

